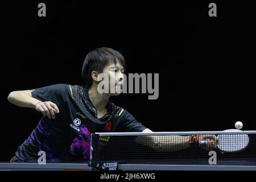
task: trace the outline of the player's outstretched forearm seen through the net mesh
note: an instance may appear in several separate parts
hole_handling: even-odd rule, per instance
[[[137,142],[157,151],[177,151],[189,147],[189,136],[151,135],[138,136]]]

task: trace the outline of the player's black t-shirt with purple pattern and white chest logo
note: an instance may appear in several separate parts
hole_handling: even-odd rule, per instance
[[[90,155],[90,133],[146,129],[112,102],[108,103],[109,113],[98,119],[84,86],[56,84],[35,89],[31,94],[40,101],[55,103],[60,112],[55,119],[42,117],[30,137],[19,146],[15,157],[21,162],[37,162],[39,151],[46,152],[48,163],[86,162]]]

